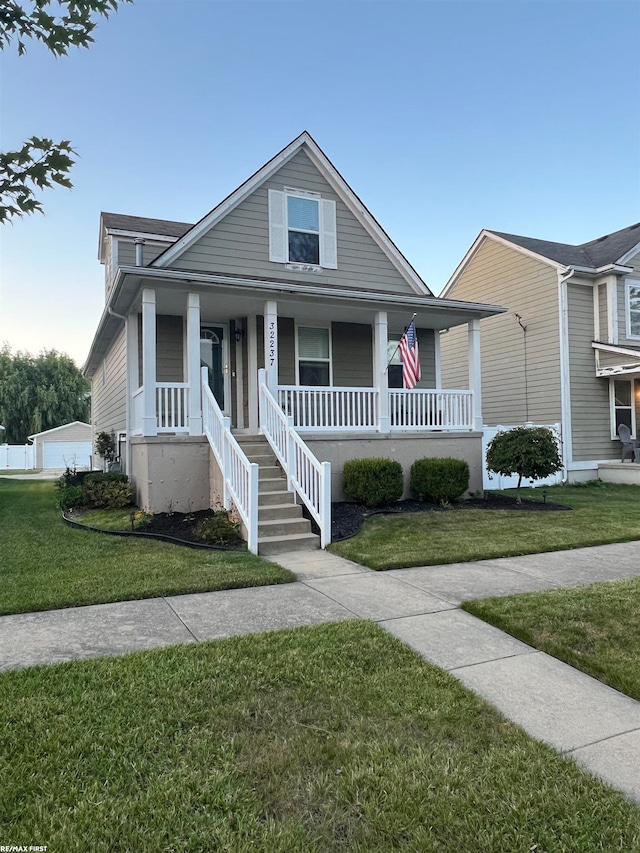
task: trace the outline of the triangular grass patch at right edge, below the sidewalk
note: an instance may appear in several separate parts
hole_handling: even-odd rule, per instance
[[[640,701],[640,578],[463,607]]]

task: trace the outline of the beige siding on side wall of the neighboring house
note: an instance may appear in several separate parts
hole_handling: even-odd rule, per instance
[[[504,305],[508,311],[480,321],[482,416],[489,425],[561,420],[558,276],[553,267],[486,239],[447,294]],[[527,327],[527,395],[524,334]],[[593,304],[591,309],[593,317]],[[441,335],[444,388],[469,387],[468,327]],[[528,399],[528,407],[526,405]]]

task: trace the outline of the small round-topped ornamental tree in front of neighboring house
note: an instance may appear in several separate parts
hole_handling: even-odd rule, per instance
[[[518,475],[516,502],[522,503],[520,484],[540,480],[562,468],[555,437],[547,427],[516,427],[499,432],[487,447],[487,468],[505,477]]]

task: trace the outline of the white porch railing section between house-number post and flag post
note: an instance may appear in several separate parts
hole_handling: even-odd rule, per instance
[[[296,429],[376,429],[377,388],[278,385],[280,407]]]

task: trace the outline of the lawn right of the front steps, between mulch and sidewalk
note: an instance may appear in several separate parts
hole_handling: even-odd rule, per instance
[[[513,494],[509,492],[508,494]],[[541,490],[524,497],[542,500]],[[640,539],[640,486],[554,486],[570,512],[455,509],[378,515],[331,551],[371,569],[432,566]]]

